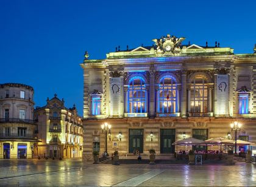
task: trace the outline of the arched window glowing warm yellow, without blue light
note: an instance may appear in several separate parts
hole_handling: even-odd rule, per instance
[[[208,112],[208,86],[207,81],[195,77],[191,82],[191,112]]]

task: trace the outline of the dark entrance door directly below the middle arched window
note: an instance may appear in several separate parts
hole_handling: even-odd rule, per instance
[[[175,129],[161,129],[160,131],[160,152],[174,153]]]

